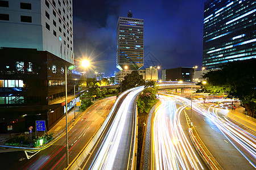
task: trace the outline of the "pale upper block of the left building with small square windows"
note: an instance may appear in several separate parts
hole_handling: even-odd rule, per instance
[[[47,51],[73,63],[71,0],[0,1],[0,47]]]

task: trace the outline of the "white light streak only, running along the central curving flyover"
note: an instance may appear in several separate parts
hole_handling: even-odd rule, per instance
[[[126,121],[126,115],[133,97],[141,92],[143,87],[135,87],[129,91],[125,91],[128,94],[123,100],[121,106],[118,109],[117,114],[114,117],[113,123],[109,128],[108,134],[103,139],[101,146],[99,147],[93,163],[89,169],[112,169],[115,156],[117,155],[117,149],[122,137],[122,131]]]

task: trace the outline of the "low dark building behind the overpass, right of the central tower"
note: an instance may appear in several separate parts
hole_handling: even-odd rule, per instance
[[[177,67],[174,69],[162,70],[163,81],[191,82],[193,80],[194,69],[192,67]]]

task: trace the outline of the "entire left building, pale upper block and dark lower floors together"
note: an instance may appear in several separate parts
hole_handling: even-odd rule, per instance
[[[65,66],[72,65],[71,0],[0,1],[0,131],[51,129],[65,114]],[[68,110],[81,74],[67,71]],[[78,87],[76,87],[78,89]]]

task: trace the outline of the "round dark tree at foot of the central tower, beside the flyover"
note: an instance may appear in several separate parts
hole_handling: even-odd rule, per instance
[[[142,86],[145,84],[143,75],[139,75],[138,71],[131,71],[131,74],[127,74],[122,83],[122,91],[128,90],[133,87]]]

